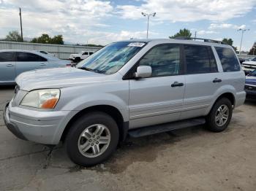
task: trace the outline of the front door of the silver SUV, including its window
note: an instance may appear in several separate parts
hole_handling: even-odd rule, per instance
[[[129,79],[129,127],[179,120],[185,79],[180,45],[153,47],[136,66],[151,66],[151,77]]]

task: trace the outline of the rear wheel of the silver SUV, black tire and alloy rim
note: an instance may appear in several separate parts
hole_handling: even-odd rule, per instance
[[[227,109],[227,112],[225,112]],[[206,117],[206,127],[213,132],[221,132],[227,128],[233,113],[232,104],[227,98],[220,98]],[[223,118],[222,118],[223,117]],[[227,118],[227,119],[225,119]]]

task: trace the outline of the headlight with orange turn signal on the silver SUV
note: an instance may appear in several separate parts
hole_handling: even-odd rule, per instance
[[[59,89],[33,90],[25,95],[20,105],[39,109],[53,109],[59,101]]]

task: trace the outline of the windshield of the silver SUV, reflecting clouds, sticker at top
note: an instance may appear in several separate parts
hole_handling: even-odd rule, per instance
[[[115,42],[80,61],[76,67],[102,74],[114,74],[145,44],[145,42]]]

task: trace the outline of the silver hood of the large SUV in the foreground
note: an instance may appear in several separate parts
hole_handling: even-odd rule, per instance
[[[20,74],[15,81],[21,90],[30,91],[40,88],[61,88],[94,82],[107,82],[110,81],[110,78],[105,74],[69,67],[26,71]]]

